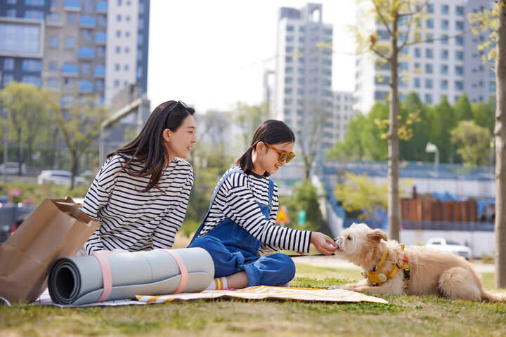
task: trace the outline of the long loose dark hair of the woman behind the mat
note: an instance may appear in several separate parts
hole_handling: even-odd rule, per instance
[[[166,128],[176,131],[186,117],[194,113],[195,110],[192,107],[187,107],[181,101],[168,100],[158,105],[146,121],[141,133],[129,144],[111,152],[107,157],[115,154],[122,157],[125,161],[122,168],[131,176],[150,176],[150,181],[142,192],[148,192],[153,187],[159,188],[158,182],[162,177],[165,164],[171,160],[164,145],[163,131]],[[134,169],[131,166],[133,161],[143,163],[143,168]]]

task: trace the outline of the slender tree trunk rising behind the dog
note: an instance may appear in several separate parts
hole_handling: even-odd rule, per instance
[[[390,61],[390,89],[389,89],[389,131],[388,140],[388,225],[389,239],[399,239],[399,194],[398,194],[398,46],[397,25],[398,17],[392,22],[391,56]]]

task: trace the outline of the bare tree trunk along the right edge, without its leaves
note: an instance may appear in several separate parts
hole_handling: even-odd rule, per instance
[[[495,41],[495,288],[506,288],[506,0],[498,4]]]

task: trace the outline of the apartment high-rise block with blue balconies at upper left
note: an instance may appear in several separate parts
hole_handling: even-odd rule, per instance
[[[98,95],[147,90],[149,0],[0,0],[0,72],[11,81]]]

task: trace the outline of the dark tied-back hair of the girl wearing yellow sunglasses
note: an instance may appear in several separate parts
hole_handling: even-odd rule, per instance
[[[253,171],[253,150],[259,142],[271,145],[290,142],[295,143],[295,135],[283,121],[277,121],[275,119],[264,121],[264,123],[255,130],[249,149],[235,162],[246,174],[251,174]],[[268,176],[271,176],[271,173],[266,171],[264,177]]]

